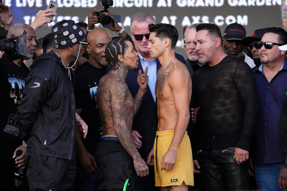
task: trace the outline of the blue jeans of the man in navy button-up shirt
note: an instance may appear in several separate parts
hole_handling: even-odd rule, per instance
[[[283,191],[278,185],[279,172],[283,163],[254,164],[257,189],[262,191]]]

